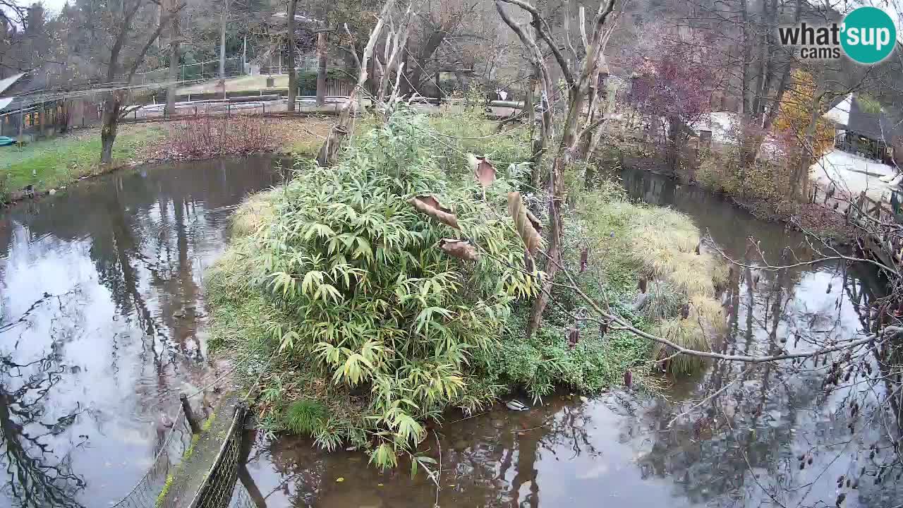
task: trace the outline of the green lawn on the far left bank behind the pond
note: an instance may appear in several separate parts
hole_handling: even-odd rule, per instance
[[[148,141],[155,141],[163,134],[162,127],[149,124],[119,127],[113,146],[113,166],[126,164]],[[0,147],[0,194],[29,184],[37,191],[65,185],[80,176],[98,173],[99,158],[99,129],[82,130],[25,146]]]

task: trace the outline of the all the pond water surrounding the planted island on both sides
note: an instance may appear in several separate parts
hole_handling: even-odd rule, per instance
[[[743,257],[749,236],[775,259],[804,241],[694,187],[621,176],[631,195],[686,212],[732,257]],[[180,390],[218,377],[204,349],[203,269],[225,248],[237,202],[279,180],[265,159],[163,165],[0,215],[0,506],[47,505],[38,492],[54,496],[51,505],[107,506],[144,474],[160,415]],[[803,329],[860,334],[880,287],[870,271],[842,264],[759,276],[731,279],[730,332],[717,349],[804,350],[812,346],[792,338]],[[880,484],[867,472],[859,488],[837,489],[839,475],[879,463],[869,445],[880,426],[851,434],[839,408],[856,387],[825,395],[823,378],[722,362],[666,398],[565,393],[522,413],[451,412],[424,442],[441,458],[438,492],[423,473],[384,474],[358,452],[253,431],[239,477],[258,508],[817,507],[841,492],[843,506],[903,503],[892,468]]]

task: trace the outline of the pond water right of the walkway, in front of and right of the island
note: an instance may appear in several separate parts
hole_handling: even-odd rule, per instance
[[[697,188],[651,174],[621,176],[634,197],[689,214],[732,258],[756,264],[750,236],[776,262],[789,255],[785,247],[805,245],[783,225]],[[816,334],[823,342],[861,334],[870,329],[879,287],[874,273],[844,263],[735,270],[723,295],[729,332],[716,349],[809,351]],[[383,474],[360,453],[323,454],[292,437],[256,437],[248,469],[268,506],[814,507],[834,506],[838,494],[846,507],[903,503],[898,482],[888,481],[899,466],[870,456],[873,443],[892,453],[887,415],[854,418],[847,409],[852,397],[871,397],[863,393],[868,385],[854,384],[865,373],[826,390],[829,367],[824,358],[804,366],[717,362],[667,398],[623,390],[585,401],[565,395],[526,414],[495,409],[449,422],[435,428],[439,444],[432,434],[424,442],[433,457],[442,449],[438,494],[425,475]],[[879,471],[885,481],[876,483]],[[838,488],[841,475],[858,484]]]

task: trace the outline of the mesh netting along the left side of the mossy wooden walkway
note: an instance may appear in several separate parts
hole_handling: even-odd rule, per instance
[[[172,428],[163,439],[160,451],[154,458],[154,464],[147,470],[144,477],[132,492],[126,494],[112,508],[155,508],[157,497],[163,492],[166,478],[172,473],[175,466],[182,462],[185,450],[191,446],[191,427],[182,405],[178,406],[178,413],[172,419]]]

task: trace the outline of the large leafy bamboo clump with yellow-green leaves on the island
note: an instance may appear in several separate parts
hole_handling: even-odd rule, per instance
[[[245,287],[228,283],[256,288],[284,315],[266,330],[278,351],[333,387],[368,393],[358,428],[396,451],[423,439],[419,420],[461,402],[472,354],[495,347],[515,298],[535,294],[505,212],[510,184],[499,179],[484,202],[463,161],[445,154],[424,117],[396,113],[339,165],[307,168],[277,194],[268,225],[249,237],[255,258],[237,261]],[[414,210],[408,200],[424,193],[454,207],[461,231]],[[442,238],[486,251],[464,262],[437,247]],[[335,446],[335,433],[354,440],[332,423],[321,445]]]

